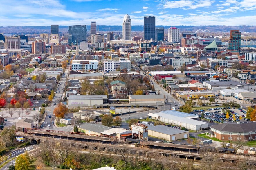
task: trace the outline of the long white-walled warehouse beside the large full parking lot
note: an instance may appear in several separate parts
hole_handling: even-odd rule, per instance
[[[206,122],[197,121],[186,117],[174,116],[172,114],[167,114],[164,112],[149,113],[148,116],[150,119],[155,119],[163,123],[185,127],[190,130],[203,130],[205,128],[208,128],[208,123]]]

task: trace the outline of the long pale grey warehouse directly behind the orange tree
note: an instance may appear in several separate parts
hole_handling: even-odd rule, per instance
[[[107,95],[70,95],[68,107],[103,106],[107,100]]]

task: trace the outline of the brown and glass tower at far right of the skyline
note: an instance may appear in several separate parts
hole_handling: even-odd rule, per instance
[[[228,40],[228,51],[240,51],[241,49],[241,32],[239,30],[230,30]]]

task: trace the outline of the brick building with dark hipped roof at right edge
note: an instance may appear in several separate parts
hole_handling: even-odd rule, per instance
[[[214,137],[219,140],[252,140],[256,138],[256,122],[222,123],[211,126],[211,131],[214,133]]]

